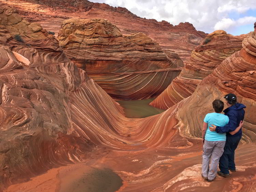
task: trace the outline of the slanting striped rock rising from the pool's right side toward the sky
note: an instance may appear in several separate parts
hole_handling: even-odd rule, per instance
[[[189,97],[201,80],[211,74],[221,62],[242,48],[246,35],[233,36],[223,30],[207,35],[193,50],[179,76],[150,105],[168,109]]]

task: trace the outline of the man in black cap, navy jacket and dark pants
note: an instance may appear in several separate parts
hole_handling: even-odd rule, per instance
[[[237,96],[233,93],[229,93],[224,97],[226,99],[226,104],[228,108],[226,108],[223,112],[228,116],[229,122],[227,125],[223,127],[212,125],[209,127],[211,131],[216,131],[217,133],[227,133],[226,134],[226,144],[224,147],[224,152],[219,159],[219,169],[217,174],[222,177],[230,177],[229,174],[231,172],[236,172],[236,164],[234,163],[234,151],[236,150],[238,143],[242,137],[242,129],[238,131],[238,133],[231,135],[229,132],[234,131],[237,127],[239,127],[239,123],[244,119],[244,108],[245,105],[237,102]]]

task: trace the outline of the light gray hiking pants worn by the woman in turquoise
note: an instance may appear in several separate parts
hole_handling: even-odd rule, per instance
[[[219,158],[224,151],[225,141],[204,141],[202,174],[212,180],[216,177]],[[210,158],[212,157],[210,169]]]

